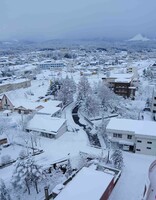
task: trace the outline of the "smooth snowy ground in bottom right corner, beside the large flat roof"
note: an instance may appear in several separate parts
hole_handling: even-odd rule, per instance
[[[154,156],[123,152],[124,169],[109,200],[140,200]]]

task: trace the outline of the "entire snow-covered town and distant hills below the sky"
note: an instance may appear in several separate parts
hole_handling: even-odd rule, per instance
[[[156,40],[0,42],[0,199],[156,199]]]

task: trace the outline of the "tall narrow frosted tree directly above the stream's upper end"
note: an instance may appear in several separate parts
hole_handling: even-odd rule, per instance
[[[90,93],[91,93],[91,86],[88,82],[88,79],[85,76],[82,76],[78,83],[77,101],[82,102]]]

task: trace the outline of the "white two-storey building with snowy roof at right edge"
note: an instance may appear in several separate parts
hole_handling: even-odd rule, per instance
[[[111,119],[106,127],[111,142],[136,153],[156,155],[156,123],[145,120]]]

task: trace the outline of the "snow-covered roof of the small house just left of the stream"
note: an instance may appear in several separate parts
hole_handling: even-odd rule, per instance
[[[28,123],[27,129],[49,134],[57,134],[61,126],[66,122],[62,118],[54,118],[49,115],[35,115]]]

